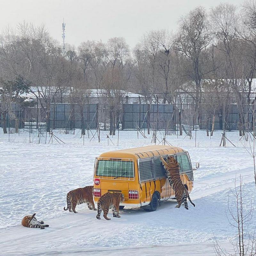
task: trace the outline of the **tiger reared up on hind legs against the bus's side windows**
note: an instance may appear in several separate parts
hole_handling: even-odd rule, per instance
[[[176,161],[176,159],[173,156],[168,156],[166,158],[166,161],[164,161],[164,158],[161,156],[160,160],[162,161],[162,164],[164,165],[164,169],[167,173],[168,180],[170,183],[170,186],[173,188],[176,200],[178,202],[178,205],[176,205],[176,208],[180,208],[180,205],[184,202],[184,207],[188,210],[188,203],[187,203],[187,197],[191,204],[192,203],[187,188],[183,185],[181,179],[180,179],[180,167],[179,163]]]

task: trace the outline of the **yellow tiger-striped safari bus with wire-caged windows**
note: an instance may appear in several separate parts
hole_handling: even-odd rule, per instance
[[[174,156],[180,166],[180,177],[188,189],[193,188],[193,169],[187,151],[172,146],[146,146],[109,151],[96,157],[93,199],[97,204],[107,192],[122,192],[124,206],[156,211],[159,201],[174,199],[160,156]],[[199,167],[199,164],[197,164]]]

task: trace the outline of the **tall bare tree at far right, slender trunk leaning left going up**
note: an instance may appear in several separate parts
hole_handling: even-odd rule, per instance
[[[215,28],[216,48],[225,56],[225,78],[236,99],[240,136],[246,130],[244,116],[244,81],[248,77],[247,57],[238,37],[239,19],[236,7],[220,4],[211,9],[212,27]]]

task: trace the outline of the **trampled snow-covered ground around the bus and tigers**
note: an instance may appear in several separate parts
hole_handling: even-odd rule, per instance
[[[225,213],[236,175],[243,175],[245,207],[256,202],[252,159],[243,148],[187,148],[193,166],[200,162],[190,194],[196,207],[177,209],[171,200],[156,212],[124,208],[120,219],[97,220],[85,204],[77,214],[63,211],[66,194],[92,185],[94,157],[116,146],[0,142],[0,148],[0,255],[215,255],[213,234],[224,246],[236,235]],[[22,227],[23,216],[34,212],[50,227]]]

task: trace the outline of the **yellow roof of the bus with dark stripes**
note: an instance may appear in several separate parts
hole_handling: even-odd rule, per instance
[[[184,149],[167,145],[150,145],[140,148],[126,148],[102,153],[99,157],[104,158],[145,158],[150,156],[172,155],[186,152]]]

